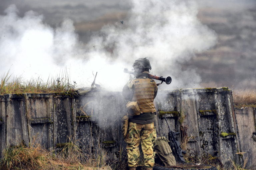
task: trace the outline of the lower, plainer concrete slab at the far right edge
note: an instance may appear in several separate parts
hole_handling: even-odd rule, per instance
[[[256,108],[235,108],[237,127],[240,137],[240,152],[248,158],[247,167],[256,169]]]

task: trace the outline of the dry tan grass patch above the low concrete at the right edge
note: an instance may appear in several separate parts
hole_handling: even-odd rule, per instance
[[[233,98],[237,107],[256,107],[256,91],[254,90],[234,91]]]

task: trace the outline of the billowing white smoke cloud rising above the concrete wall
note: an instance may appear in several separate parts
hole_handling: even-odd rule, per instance
[[[47,78],[61,69],[70,69],[72,81],[89,86],[92,71],[98,71],[96,83],[110,90],[121,90],[129,78],[123,68],[140,57],[149,57],[152,74],[173,78],[168,88],[198,87],[201,81],[195,69],[182,68],[195,52],[216,43],[215,33],[197,19],[193,2],[176,0],[130,0],[131,11],[124,24],[106,25],[83,47],[73,23],[65,20],[56,29],[42,22],[32,11],[23,18],[15,6],[0,16],[0,71],[9,68],[24,78]]]

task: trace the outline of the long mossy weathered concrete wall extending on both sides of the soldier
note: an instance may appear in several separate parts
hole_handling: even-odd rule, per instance
[[[69,93],[0,96],[0,152],[20,142],[41,143],[52,150],[71,139],[87,154],[106,162],[117,160],[125,154],[121,133],[125,102],[120,92],[95,89],[79,97]],[[192,155],[210,154],[224,164],[230,159],[242,162],[235,153],[241,150],[238,141],[243,129],[236,125],[230,90],[159,90],[155,103],[159,136],[168,135],[166,117],[170,128],[182,133],[178,140],[190,136],[187,147]],[[237,135],[223,137],[222,132]]]

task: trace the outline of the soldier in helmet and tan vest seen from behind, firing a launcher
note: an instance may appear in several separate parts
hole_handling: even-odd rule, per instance
[[[156,138],[154,128],[156,109],[154,98],[157,94],[157,85],[153,79],[148,78],[151,65],[147,58],[135,60],[133,68],[136,79],[130,80],[123,88],[125,99],[136,103],[138,108],[129,114],[128,131],[125,136],[128,166],[129,170],[136,170],[140,157],[139,145],[141,145],[144,165],[147,170],[152,170],[155,163],[153,142]]]

